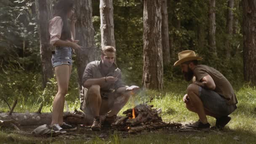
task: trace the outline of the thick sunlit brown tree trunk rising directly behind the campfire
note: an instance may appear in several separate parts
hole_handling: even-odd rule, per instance
[[[143,88],[163,89],[162,0],[144,0]]]

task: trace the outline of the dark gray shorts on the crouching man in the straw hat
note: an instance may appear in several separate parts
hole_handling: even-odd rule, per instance
[[[236,104],[227,104],[227,100],[215,91],[199,87],[199,96],[205,109],[219,116],[230,115],[237,108]]]

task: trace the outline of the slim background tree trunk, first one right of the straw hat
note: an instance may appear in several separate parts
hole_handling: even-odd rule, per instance
[[[209,47],[213,56],[217,56],[216,51],[216,41],[215,41],[215,32],[216,32],[216,22],[215,22],[215,0],[209,0]]]

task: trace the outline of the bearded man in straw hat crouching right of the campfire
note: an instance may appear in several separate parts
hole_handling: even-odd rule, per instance
[[[186,81],[193,78],[187,87],[183,101],[189,111],[197,113],[199,120],[186,128],[210,128],[206,115],[216,118],[216,128],[222,129],[231,120],[230,115],[237,108],[237,98],[232,85],[219,71],[205,65],[198,65],[194,51],[182,51],[178,54],[180,65]]]

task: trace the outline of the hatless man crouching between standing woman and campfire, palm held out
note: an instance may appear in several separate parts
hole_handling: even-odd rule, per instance
[[[101,130],[101,118],[106,124],[114,123],[117,113],[131,97],[131,91],[139,88],[125,86],[121,80],[121,71],[114,63],[115,51],[114,47],[105,46],[101,61],[87,64],[83,74],[80,109],[93,131]]]

